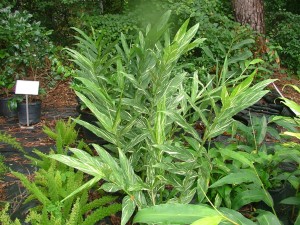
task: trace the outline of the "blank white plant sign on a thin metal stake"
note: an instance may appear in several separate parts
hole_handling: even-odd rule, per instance
[[[38,95],[39,94],[39,81],[29,81],[29,80],[17,80],[15,94],[22,94],[26,97],[26,119],[27,128],[29,127],[29,107],[28,107],[28,95]]]

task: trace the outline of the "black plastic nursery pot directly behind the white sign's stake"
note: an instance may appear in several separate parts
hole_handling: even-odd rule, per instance
[[[28,103],[29,124],[36,124],[41,121],[42,103],[41,101]],[[21,125],[27,124],[26,103],[18,103],[18,118]]]

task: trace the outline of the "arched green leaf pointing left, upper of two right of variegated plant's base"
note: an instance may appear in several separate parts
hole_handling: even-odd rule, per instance
[[[260,181],[256,174],[250,169],[240,169],[230,173],[210,185],[210,188],[220,187],[225,184],[238,185],[242,183],[254,183],[260,186]]]

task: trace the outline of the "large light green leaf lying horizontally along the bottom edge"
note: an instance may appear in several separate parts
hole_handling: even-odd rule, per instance
[[[162,204],[143,208],[134,217],[134,223],[191,224],[201,218],[220,216],[206,205]]]

